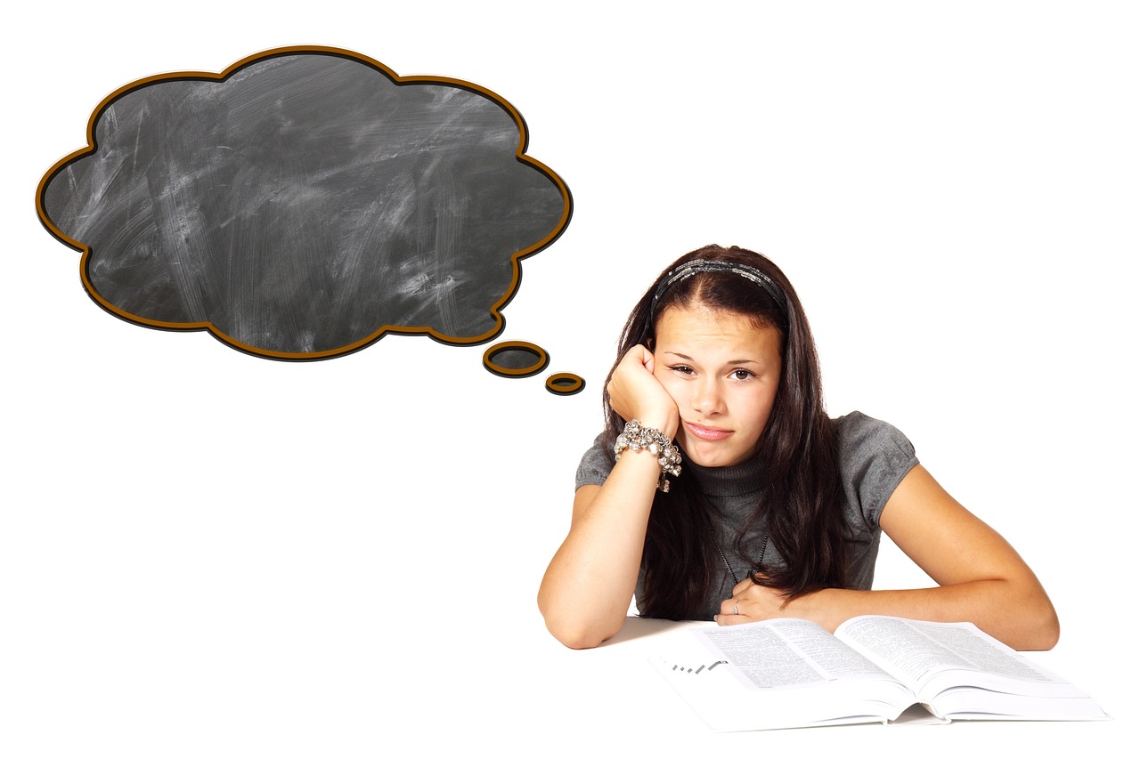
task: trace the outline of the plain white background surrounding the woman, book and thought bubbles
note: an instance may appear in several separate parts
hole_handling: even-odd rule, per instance
[[[1140,506],[1135,3],[261,6],[9,19],[0,753],[1134,744],[1138,668],[1114,652],[1134,650]],[[421,337],[269,361],[87,297],[34,194],[91,111],[292,44],[522,113],[575,199],[504,310],[500,340],[545,348],[546,373],[502,378],[486,346]],[[831,414],[902,429],[1037,571],[1062,623],[1039,661],[1113,723],[716,735],[645,638],[570,652],[545,632],[535,594],[618,328],[711,242],[796,284]],[[551,394],[554,372],[585,392]],[[878,582],[926,580],[888,547]]]

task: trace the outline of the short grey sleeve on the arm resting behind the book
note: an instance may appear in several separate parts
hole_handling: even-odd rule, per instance
[[[919,463],[914,446],[894,426],[858,411],[839,417],[836,424],[839,474],[853,512],[848,521],[878,530],[882,507]]]

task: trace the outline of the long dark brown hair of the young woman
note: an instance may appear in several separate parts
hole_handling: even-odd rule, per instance
[[[694,259],[743,264],[759,270],[783,294],[780,303],[766,287],[731,271],[701,271],[654,294],[677,267]],[[673,307],[705,305],[748,317],[781,335],[783,368],[775,403],[757,444],[765,481],[751,516],[736,533],[736,550],[752,564],[754,581],[777,588],[792,598],[826,587],[844,587],[845,520],[840,501],[834,431],[823,406],[823,387],[815,341],[799,297],[772,261],[740,247],[708,245],[677,259],[634,307],[619,341],[618,362],[638,343],[652,350],[661,313]],[[625,426],[602,398],[611,441]],[[643,617],[690,619],[708,598],[723,564],[714,534],[716,515],[693,478],[684,473],[668,493],[658,492],[650,512],[642,553]],[[749,528],[766,523],[768,540],[783,557],[764,565],[743,545]],[[757,547],[752,547],[754,550]]]

